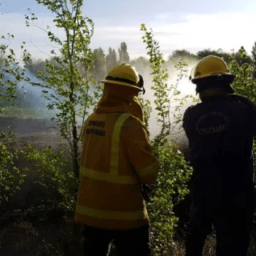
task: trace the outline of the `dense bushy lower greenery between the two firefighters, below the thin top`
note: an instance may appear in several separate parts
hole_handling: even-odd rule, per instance
[[[152,199],[147,205],[150,214],[151,242],[156,255],[170,255],[172,238],[177,227],[178,217],[174,206],[189,193],[187,182],[192,173],[178,146],[154,147],[160,164],[158,179]]]

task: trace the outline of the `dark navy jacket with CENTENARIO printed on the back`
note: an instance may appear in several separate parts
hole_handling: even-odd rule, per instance
[[[194,166],[195,198],[226,203],[254,189],[255,124],[252,108],[231,96],[207,97],[186,110],[183,128]]]

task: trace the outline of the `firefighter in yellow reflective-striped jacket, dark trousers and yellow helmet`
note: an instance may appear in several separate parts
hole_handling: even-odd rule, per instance
[[[83,129],[75,221],[84,224],[84,254],[107,255],[113,241],[121,255],[151,255],[140,183],[155,181],[158,162],[138,103],[143,79],[121,64],[101,82],[102,98]]]

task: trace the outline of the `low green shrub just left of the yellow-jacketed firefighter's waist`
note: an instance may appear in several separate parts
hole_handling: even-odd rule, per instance
[[[28,150],[22,151],[22,154],[32,164],[30,170],[26,169],[28,174],[30,172],[38,174],[36,183],[45,187],[46,190],[56,191],[57,197],[50,202],[50,208],[73,212],[78,181],[74,178],[74,172],[65,151],[57,153],[49,146],[41,151],[28,145]]]

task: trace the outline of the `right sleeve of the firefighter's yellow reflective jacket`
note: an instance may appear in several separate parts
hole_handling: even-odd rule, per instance
[[[154,155],[146,126],[135,118],[129,118],[128,158],[142,183],[150,184],[157,178],[159,166]]]

